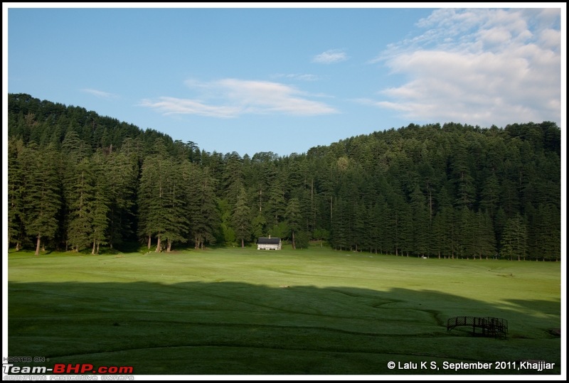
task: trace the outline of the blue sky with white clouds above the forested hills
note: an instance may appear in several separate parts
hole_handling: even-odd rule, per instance
[[[565,3],[503,5],[4,3],[4,91],[242,156],[410,123],[562,126]]]

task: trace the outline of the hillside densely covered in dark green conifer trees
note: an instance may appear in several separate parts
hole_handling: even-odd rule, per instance
[[[553,122],[410,124],[242,157],[30,95],[9,95],[8,112],[15,249],[169,252],[272,235],[297,249],[560,259]]]

